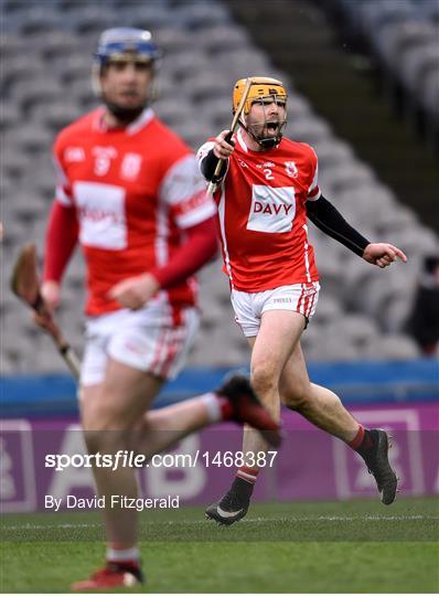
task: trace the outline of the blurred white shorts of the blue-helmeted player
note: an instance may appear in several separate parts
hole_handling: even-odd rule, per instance
[[[196,308],[185,308],[175,324],[170,307],[159,300],[141,310],[121,309],[87,319],[81,384],[101,383],[108,358],[173,379],[184,365],[199,320]]]

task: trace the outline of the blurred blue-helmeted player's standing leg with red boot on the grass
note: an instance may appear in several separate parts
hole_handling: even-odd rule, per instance
[[[82,423],[88,453],[115,456],[119,450],[129,449],[130,430],[162,383],[148,373],[108,360],[105,380],[82,389]],[[74,584],[74,590],[109,589],[143,581],[137,546],[138,513],[121,507],[124,498],[138,496],[135,469],[129,466],[113,468],[93,468],[97,492],[105,497],[106,565],[89,579]],[[114,496],[119,496],[116,502]]]

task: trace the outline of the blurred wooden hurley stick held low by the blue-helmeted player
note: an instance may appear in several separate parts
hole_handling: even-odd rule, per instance
[[[75,379],[79,379],[79,359],[64,338],[61,329],[50,313],[40,294],[40,280],[36,273],[36,249],[34,244],[26,244],[20,252],[12,270],[11,289],[15,296],[43,316],[45,331],[53,339],[61,356],[66,362]]]

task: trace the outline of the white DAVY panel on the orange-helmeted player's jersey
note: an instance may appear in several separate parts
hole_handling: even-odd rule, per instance
[[[254,184],[247,230],[267,233],[290,232],[296,215],[293,187]]]

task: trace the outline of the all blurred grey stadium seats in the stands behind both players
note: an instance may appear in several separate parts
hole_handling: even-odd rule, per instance
[[[165,52],[157,111],[194,149],[228,126],[231,89],[236,78],[247,73],[282,77],[220,1],[197,0],[184,7],[165,0],[141,4],[111,0],[105,4],[103,11],[96,2],[87,6],[73,0],[45,1],[44,7],[36,0],[2,3],[4,102],[0,129],[4,150],[0,190],[7,276],[24,242],[34,240],[42,253],[54,184],[51,145],[56,130],[95,105],[90,54],[101,29],[137,24],[157,31]],[[438,11],[431,3],[421,2],[421,15],[414,17],[409,0],[344,0],[343,4],[358,26],[374,33],[376,51],[389,65],[400,68],[407,88],[419,95],[432,115],[438,105],[438,67],[433,46],[427,43],[431,38],[425,33],[433,25],[422,19],[438,22]],[[414,22],[404,24],[408,18]],[[291,89],[293,82],[287,83]],[[406,266],[382,272],[310,225],[323,291],[315,320],[303,336],[307,355],[328,361],[416,356],[417,348],[401,336],[401,326],[420,259],[426,252],[437,249],[436,235],[398,204],[353,149],[333,135],[329,123],[313,113],[306,97],[291,94],[289,110],[287,134],[314,146],[321,185],[346,219],[374,240],[400,242],[410,253]],[[81,255],[76,255],[67,270],[60,312],[61,323],[78,350],[83,342],[83,272]],[[203,319],[191,364],[247,362],[246,340],[233,320],[228,283],[220,260],[200,277]],[[47,338],[33,328],[24,307],[8,291],[1,297],[1,307],[3,373],[64,370]]]

